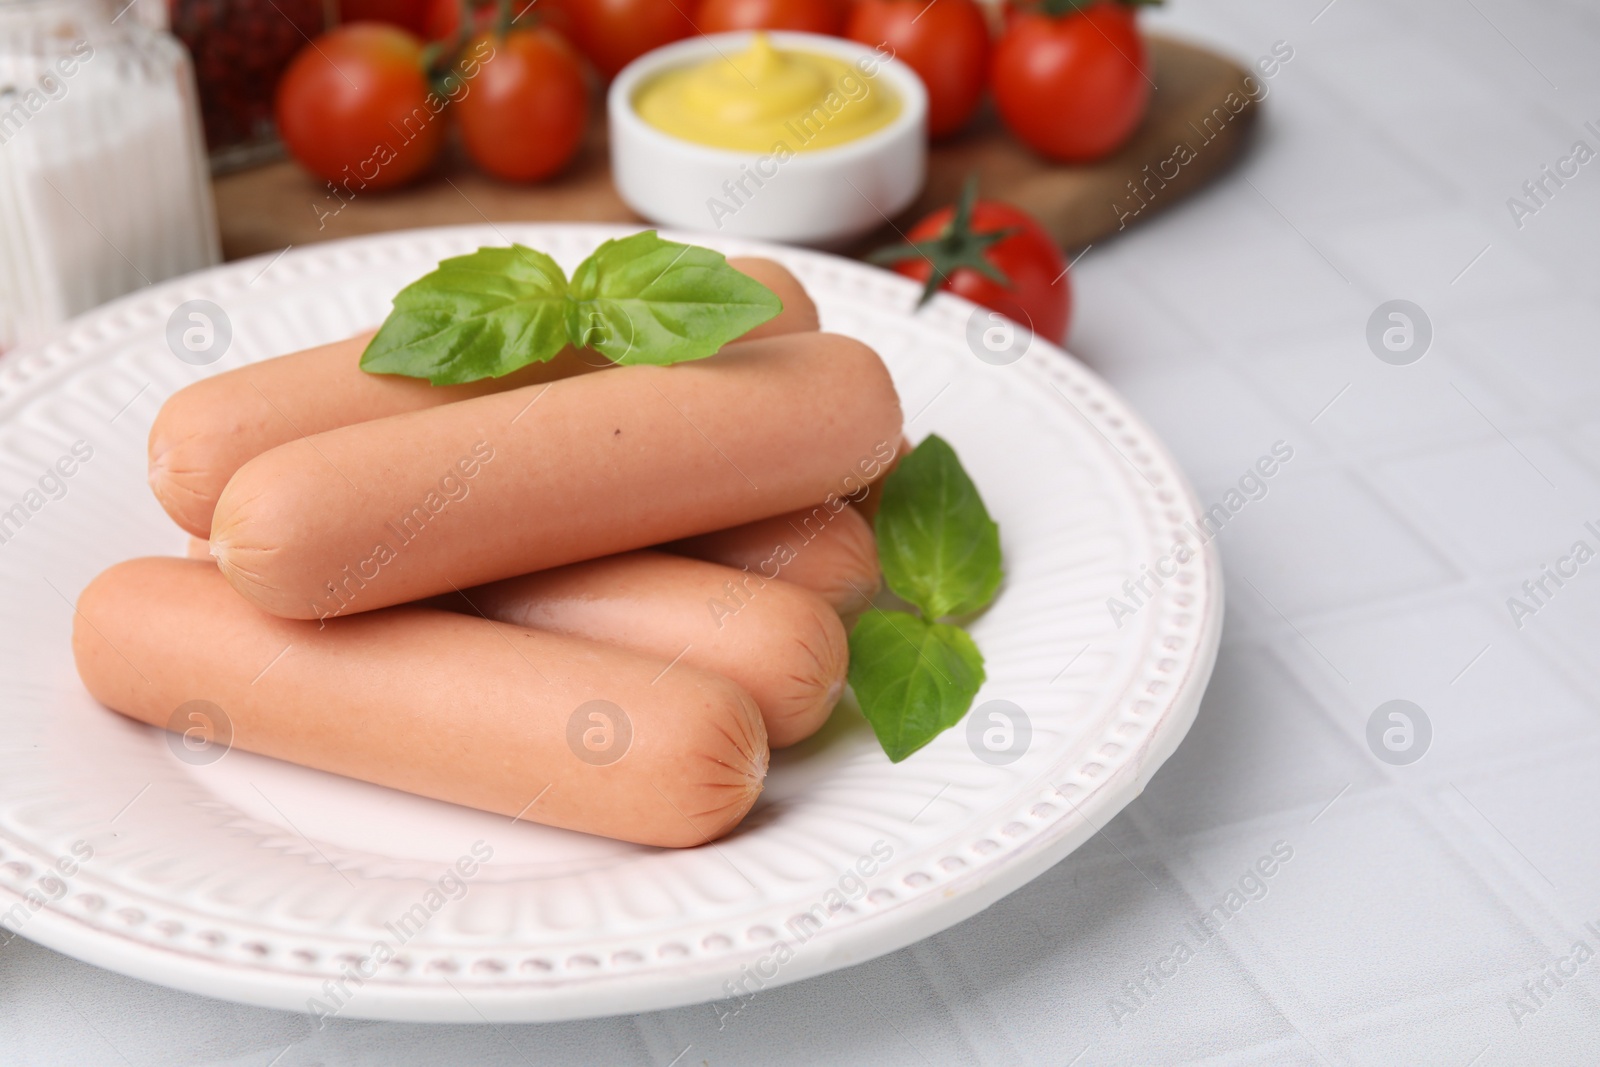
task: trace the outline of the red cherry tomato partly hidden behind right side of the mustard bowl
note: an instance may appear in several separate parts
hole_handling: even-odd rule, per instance
[[[974,0],[858,0],[845,37],[886,45],[928,86],[928,133],[955,133],[989,78],[989,24]]]

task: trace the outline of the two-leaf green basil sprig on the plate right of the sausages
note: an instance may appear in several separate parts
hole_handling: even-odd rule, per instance
[[[883,482],[874,530],[883,579],[920,614],[874,608],[850,632],[850,686],[899,763],[962,721],[984,683],[984,656],[941,619],[994,600],[1000,526],[955,450],[928,437]]]

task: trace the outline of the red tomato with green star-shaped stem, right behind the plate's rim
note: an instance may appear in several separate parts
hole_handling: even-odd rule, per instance
[[[976,184],[968,182],[958,203],[912,227],[906,235],[909,245],[886,248],[870,259],[893,264],[898,274],[925,285],[938,266],[944,282],[926,288],[923,299],[934,288],[946,290],[1059,342],[1072,317],[1066,256],[1034,216],[976,195]],[[1011,232],[997,240],[1003,230]],[[995,274],[1005,282],[987,277]]]

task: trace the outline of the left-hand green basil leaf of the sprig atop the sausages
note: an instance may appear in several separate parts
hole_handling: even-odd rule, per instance
[[[531,248],[445,259],[400,290],[362,370],[435,386],[499,378],[566,346],[566,302],[562,267]]]

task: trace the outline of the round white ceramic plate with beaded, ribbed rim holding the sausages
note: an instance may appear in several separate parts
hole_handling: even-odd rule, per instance
[[[1053,346],[1003,366],[976,358],[963,301],[912,314],[902,278],[754,243],[722,246],[782,261],[826,328],[877,347],[909,435],[952,442],[1000,522],[1006,582],[971,629],[989,669],[979,710],[1010,701],[1027,715],[1019,758],[979,758],[987,749],[957,726],[894,766],[846,701],[776,755],[738,832],[664,851],[245,752],[195,765],[171,734],[88,697],[69,649],[78,590],[117,560],[184,545],[144,485],[146,434],[171,392],[378,323],[445,256],[517,240],[571,269],[619,232],[506,224],[317,245],[146,290],[0,362],[0,512],[26,512],[19,530],[0,526],[0,926],[274,1008],[466,1022],[630,1013],[749,995],[944,929],[1144,789],[1189,729],[1222,621],[1211,547],[1120,627],[1107,609],[1195,515],[1165,448]],[[190,299],[232,326],[210,366],[165,339]],[[93,458],[64,491],[46,478],[56,496],[29,496],[80,440]],[[475,843],[493,859],[458,889],[445,875]],[[93,856],[77,862],[75,845]],[[365,979],[355,968],[376,942],[395,958]]]

